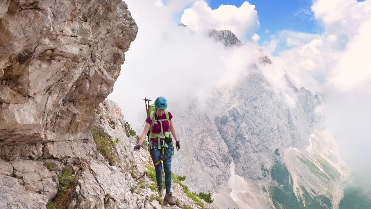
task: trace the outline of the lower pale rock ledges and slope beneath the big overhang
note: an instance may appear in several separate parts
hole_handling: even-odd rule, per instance
[[[49,200],[58,203],[61,182],[66,180],[63,178],[66,175],[64,169],[70,167],[74,181],[65,197],[65,207],[137,209],[142,208],[144,200],[144,208],[160,209],[156,199],[158,194],[150,189],[156,188],[157,184],[147,177],[148,188],[145,190],[144,177],[138,182],[134,180],[144,171],[150,172],[148,168],[153,165],[148,164],[150,156],[144,148],[134,153],[134,141],[127,137],[123,119],[118,105],[105,100],[99,104],[93,117],[95,125],[92,130],[99,135],[90,135],[88,139],[36,143],[35,146],[0,146],[3,158],[0,159],[0,189],[3,191],[0,192],[0,208],[46,208]],[[111,157],[102,154],[100,136],[114,144],[109,148]],[[39,145],[41,149],[38,149]],[[184,205],[201,208],[184,193],[180,184],[173,182],[172,189],[177,200],[173,208]],[[205,208],[211,208],[200,201]],[[168,207],[166,203],[164,205]]]

